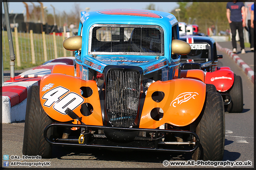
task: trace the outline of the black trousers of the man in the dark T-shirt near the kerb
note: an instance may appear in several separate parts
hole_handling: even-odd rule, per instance
[[[240,39],[240,47],[241,49],[244,49],[244,33],[243,33],[243,27],[242,27],[242,22],[231,22],[229,24],[230,29],[231,29],[231,33],[232,33],[232,46],[233,49],[236,49],[236,40],[235,40],[235,36],[236,36],[236,30],[238,30],[238,34],[239,34],[239,39]]]

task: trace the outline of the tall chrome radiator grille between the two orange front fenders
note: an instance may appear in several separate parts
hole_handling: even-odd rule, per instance
[[[106,79],[106,111],[113,126],[130,127],[136,118],[140,74],[132,70],[109,70]]]

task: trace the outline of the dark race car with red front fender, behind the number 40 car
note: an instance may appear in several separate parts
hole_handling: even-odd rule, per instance
[[[181,69],[202,69],[206,73],[205,82],[213,84],[222,95],[225,108],[230,113],[243,110],[242,79],[229,67],[217,67],[216,43],[206,36],[181,36],[181,40],[191,45],[191,52],[181,56]]]

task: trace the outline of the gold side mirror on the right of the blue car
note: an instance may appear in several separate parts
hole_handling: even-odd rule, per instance
[[[187,55],[191,51],[191,46],[182,40],[172,40],[172,54]]]

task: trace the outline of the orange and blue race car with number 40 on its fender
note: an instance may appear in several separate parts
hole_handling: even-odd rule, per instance
[[[92,11],[63,46],[75,65],[55,65],[28,90],[24,155],[50,158],[59,145],[223,159],[222,96],[203,70],[181,70],[191,46],[174,15]]]

